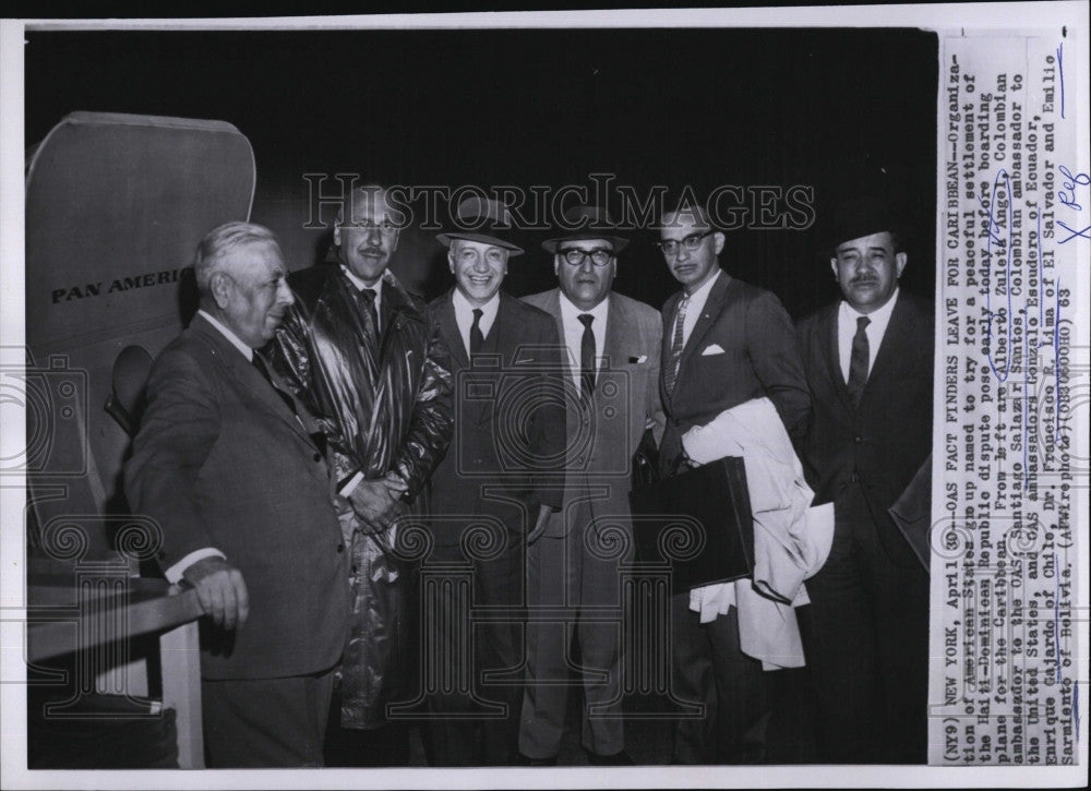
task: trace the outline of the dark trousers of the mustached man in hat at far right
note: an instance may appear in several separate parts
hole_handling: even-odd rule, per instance
[[[859,484],[836,503],[834,543],[807,580],[801,626],[815,684],[819,759],[927,759],[928,576],[892,563]]]

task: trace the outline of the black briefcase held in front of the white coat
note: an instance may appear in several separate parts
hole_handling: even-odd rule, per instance
[[[628,494],[637,563],[667,563],[675,592],[754,575],[746,468],[726,456]]]

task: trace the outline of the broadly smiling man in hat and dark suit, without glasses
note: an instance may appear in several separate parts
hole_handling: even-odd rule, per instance
[[[443,612],[458,621],[471,604],[493,618],[468,632],[447,623],[439,636],[446,661],[432,670],[446,681],[427,735],[433,765],[509,765],[523,703],[526,541],[562,505],[563,369],[553,319],[501,290],[508,259],[523,252],[508,238],[507,207],[469,197],[457,214],[457,227],[436,237],[455,287],[429,305],[452,352],[456,398],[452,446],[432,478],[430,563],[454,570]],[[471,590],[459,584],[467,567]]]

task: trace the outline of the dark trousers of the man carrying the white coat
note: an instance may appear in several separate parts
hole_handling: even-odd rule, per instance
[[[674,693],[704,706],[700,717],[678,721],[672,763],[764,763],[772,717],[769,681],[762,662],[742,652],[739,610],[703,624],[685,591],[671,597],[671,623]]]

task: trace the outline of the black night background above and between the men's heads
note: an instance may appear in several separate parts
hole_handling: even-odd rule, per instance
[[[721,262],[799,316],[838,295],[822,249],[839,195],[882,182],[910,231],[906,288],[935,284],[937,38],[911,29],[151,32],[26,35],[27,145],[73,110],[218,119],[254,148],[252,219],[293,268],[321,261],[303,173],[399,184],[815,189],[803,230],[734,230]],[[611,203],[613,211],[618,205]],[[329,213],[323,217],[332,219]],[[516,295],[555,284],[526,232]],[[615,288],[675,288],[637,231]],[[196,240],[194,240],[195,242]],[[443,249],[406,232],[395,268],[431,297]]]

